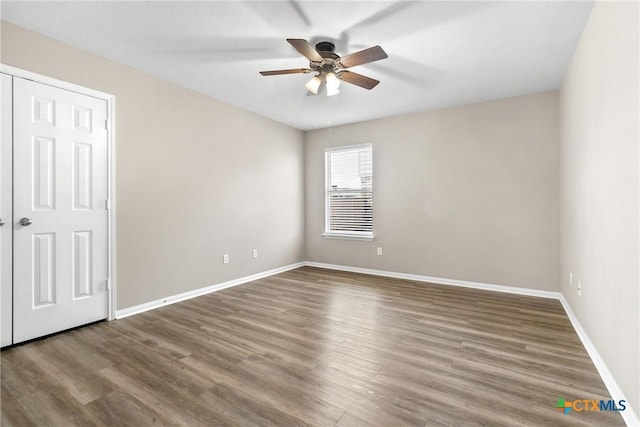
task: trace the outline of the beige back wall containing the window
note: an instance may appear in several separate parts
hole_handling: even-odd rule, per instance
[[[557,98],[306,133],[307,260],[559,290]],[[323,238],[324,150],[359,143],[373,144],[375,241]]]

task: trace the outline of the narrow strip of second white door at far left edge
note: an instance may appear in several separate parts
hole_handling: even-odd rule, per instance
[[[0,74],[0,347],[13,342],[11,304],[11,138],[12,106],[11,76]]]

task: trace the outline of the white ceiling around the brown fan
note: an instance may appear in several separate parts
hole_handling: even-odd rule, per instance
[[[5,21],[302,130],[557,89],[592,1],[11,2]],[[286,38],[329,40],[339,55],[389,55],[307,96]]]

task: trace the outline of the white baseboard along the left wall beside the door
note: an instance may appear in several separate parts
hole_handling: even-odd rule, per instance
[[[210,294],[211,292],[227,289],[232,286],[242,285],[243,283],[251,282],[253,280],[262,279],[264,277],[273,276],[275,274],[284,273],[285,271],[293,270],[304,266],[304,262],[297,262],[295,264],[289,264],[284,267],[274,268],[272,270],[263,271],[249,276],[240,277],[238,279],[229,280],[227,282],[218,283],[217,285],[211,285],[200,289],[194,289],[193,291],[183,292],[178,295],[172,295],[166,298],[158,299],[155,301],[145,302],[144,304],[134,305],[133,307],[123,308],[122,310],[116,310],[116,319],[124,319],[125,317],[133,316],[134,314],[144,313],[145,311],[153,310],[155,308],[164,307],[165,305],[175,304],[180,301],[188,300],[191,298],[199,297],[201,295]]]

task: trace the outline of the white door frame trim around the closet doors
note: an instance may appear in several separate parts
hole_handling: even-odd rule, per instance
[[[82,95],[92,96],[107,102],[107,319],[114,320],[116,318],[116,110],[115,96],[101,92],[99,90],[90,89],[69,83],[64,80],[55,79],[53,77],[43,76],[21,68],[12,67],[0,63],[0,73],[8,74],[13,77],[19,77],[26,80],[32,80],[37,83],[57,87],[59,89],[77,92]]]

